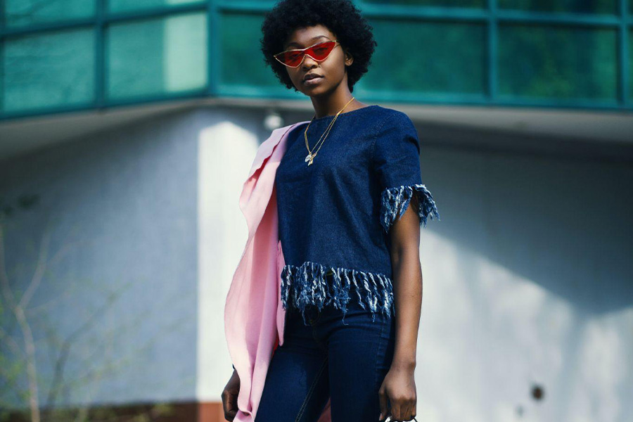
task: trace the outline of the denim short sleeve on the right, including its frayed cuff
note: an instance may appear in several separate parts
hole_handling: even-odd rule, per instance
[[[372,163],[381,186],[381,225],[385,233],[404,215],[414,197],[421,226],[426,226],[428,218],[440,219],[433,196],[422,184],[420,141],[406,114],[393,113],[381,124],[373,144]]]

